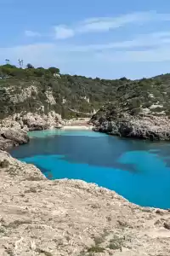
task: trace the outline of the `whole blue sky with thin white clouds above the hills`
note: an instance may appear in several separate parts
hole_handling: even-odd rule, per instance
[[[0,64],[101,79],[170,73],[169,0],[0,0]]]

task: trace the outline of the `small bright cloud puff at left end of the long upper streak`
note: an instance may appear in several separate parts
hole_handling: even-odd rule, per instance
[[[55,26],[54,30],[55,30],[55,38],[56,39],[71,38],[75,34],[74,30],[72,30],[71,28],[68,28],[64,25]]]

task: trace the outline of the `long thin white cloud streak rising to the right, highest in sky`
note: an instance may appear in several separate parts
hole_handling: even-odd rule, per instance
[[[128,24],[142,25],[147,22],[169,21],[170,15],[158,14],[156,11],[136,12],[117,17],[96,17],[88,20],[82,20],[73,26],[59,25],[55,26],[55,35],[57,39],[74,37],[77,34],[88,32],[108,32],[110,30],[127,26]]]

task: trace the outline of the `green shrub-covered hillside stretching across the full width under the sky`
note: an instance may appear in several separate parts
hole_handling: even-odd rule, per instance
[[[14,113],[51,110],[63,118],[79,117],[82,113],[93,114],[105,104],[109,104],[111,111],[120,108],[132,115],[168,116],[170,74],[152,79],[106,80],[60,74],[56,67],[34,68],[31,64],[25,69],[9,64],[0,67],[0,119]]]

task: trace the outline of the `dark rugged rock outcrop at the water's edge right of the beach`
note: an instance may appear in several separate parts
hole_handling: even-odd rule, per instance
[[[111,108],[111,107],[110,107]],[[94,131],[120,137],[170,140],[170,120],[166,116],[123,113],[121,109],[102,108],[91,119]]]

